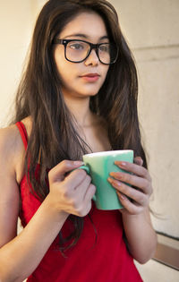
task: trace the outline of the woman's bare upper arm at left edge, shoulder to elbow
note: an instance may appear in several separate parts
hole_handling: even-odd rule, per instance
[[[23,144],[17,126],[0,129],[0,247],[17,232],[20,206],[17,177],[20,177],[18,167],[22,167],[22,155]]]

